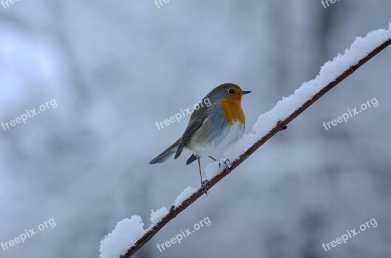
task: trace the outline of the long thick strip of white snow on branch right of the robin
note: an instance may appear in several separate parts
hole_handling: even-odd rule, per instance
[[[388,31],[379,29],[370,31],[364,38],[356,37],[350,49],[346,49],[343,55],[339,53],[332,61],[327,61],[321,67],[315,79],[304,82],[292,95],[282,97],[282,100],[278,101],[272,110],[262,114],[254,124],[252,132],[248,135],[243,135],[240,140],[233,143],[224,153],[224,157],[231,161],[238,159],[243,152],[275,127],[278,121],[289,117],[290,114],[299,109],[308,99],[311,99],[326,87],[328,83],[343,74],[350,66],[357,64],[370,51],[390,38],[391,22]],[[208,167],[207,175],[214,175],[214,172],[210,171]]]

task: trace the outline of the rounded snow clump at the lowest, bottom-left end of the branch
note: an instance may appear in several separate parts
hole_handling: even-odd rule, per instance
[[[117,222],[115,229],[101,240],[100,258],[119,258],[144,233],[140,216],[134,215]]]

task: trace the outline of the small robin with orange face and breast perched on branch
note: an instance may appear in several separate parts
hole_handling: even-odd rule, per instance
[[[152,159],[150,164],[163,163],[174,154],[174,159],[177,159],[183,149],[190,151],[192,156],[187,159],[186,165],[198,161],[201,186],[208,196],[206,183],[202,180],[200,158],[208,156],[216,161],[210,156],[211,152],[226,148],[243,135],[246,120],[241,99],[250,92],[243,91],[234,83],[224,83],[214,88],[195,107],[183,135]]]

